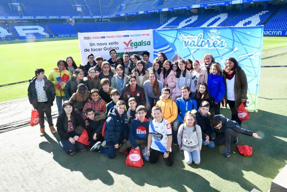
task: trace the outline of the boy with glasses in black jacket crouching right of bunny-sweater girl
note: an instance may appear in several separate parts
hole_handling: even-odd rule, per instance
[[[210,104],[207,101],[202,101],[197,113],[195,113],[197,125],[201,128],[202,145],[210,149],[214,148],[214,142],[211,139],[211,125],[210,125]]]

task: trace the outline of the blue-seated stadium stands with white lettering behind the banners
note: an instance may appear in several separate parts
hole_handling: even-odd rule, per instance
[[[221,0],[220,0],[221,1]],[[220,2],[216,1],[216,2]],[[19,3],[13,6],[12,2]],[[159,2],[163,4],[160,5]],[[50,1],[43,0],[38,3],[36,0],[13,0],[7,3],[0,0],[0,16],[96,16],[110,15],[115,13],[130,13],[133,11],[145,11],[156,8],[184,6],[198,3],[212,3],[211,0],[62,0]],[[273,2],[273,1],[272,1]],[[271,3],[269,3],[270,5]],[[37,7],[35,8],[35,5]],[[212,27],[212,26],[255,26],[264,25],[264,30],[287,30],[287,4],[253,6],[246,5],[243,10],[208,9],[199,8],[196,14],[190,10],[179,10],[174,12],[161,12],[152,14],[139,14],[135,16],[125,16],[107,19],[51,19],[39,20],[27,23],[2,22],[0,33],[14,33],[15,37],[24,37],[29,35],[59,35],[76,34],[78,32],[101,32],[101,31],[124,31],[124,30],[144,30],[160,28],[188,28],[188,27]],[[55,7],[62,7],[55,9]],[[77,8],[81,8],[77,11]],[[227,7],[226,7],[227,8]],[[201,13],[201,11],[204,12]],[[197,13],[198,12],[198,13]],[[164,17],[164,19],[162,19]],[[35,22],[35,24],[34,24]],[[27,25],[24,27],[24,25]],[[34,24],[34,25],[33,25]],[[4,25],[6,25],[4,27]],[[283,33],[283,32],[282,32]],[[285,33],[285,32],[284,32]],[[274,34],[274,33],[272,33]],[[277,34],[277,33],[276,33]],[[63,37],[63,36],[62,36]]]

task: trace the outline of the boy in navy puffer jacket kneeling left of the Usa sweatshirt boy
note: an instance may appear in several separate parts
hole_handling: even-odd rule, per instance
[[[104,139],[108,148],[98,144],[94,147],[94,151],[101,151],[111,159],[116,157],[116,149],[120,147],[121,143],[126,142],[127,138],[125,114],[123,113],[125,113],[125,102],[119,100],[108,113],[108,119],[106,120]]]

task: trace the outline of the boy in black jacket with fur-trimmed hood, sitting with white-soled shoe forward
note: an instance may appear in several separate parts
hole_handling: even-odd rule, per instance
[[[89,147],[91,147],[91,151],[94,151],[94,147],[101,143],[102,140],[102,128],[104,126],[106,120],[105,113],[95,113],[93,109],[88,108],[85,111],[86,117],[88,117],[87,132],[89,135]],[[102,144],[105,145],[105,144]]]

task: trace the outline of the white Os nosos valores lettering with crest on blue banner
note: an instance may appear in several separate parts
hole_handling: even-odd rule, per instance
[[[198,48],[198,49],[224,49],[227,45],[225,40],[219,40],[219,33],[212,33],[209,35],[209,39],[203,39],[203,33],[195,35],[180,35],[179,40],[183,41],[184,48]]]

